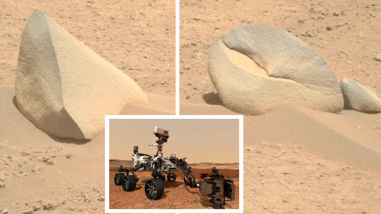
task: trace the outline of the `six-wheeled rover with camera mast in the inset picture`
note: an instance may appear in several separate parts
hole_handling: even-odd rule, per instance
[[[168,141],[169,131],[155,127],[154,135],[158,137],[157,144],[148,144],[148,146],[156,146],[156,154],[151,156],[139,153],[138,146],[134,146],[134,154],[132,155],[134,167],[127,169],[120,166],[118,170],[120,173],[115,174],[114,177],[115,185],[122,185],[125,192],[130,192],[135,189],[136,182],[139,181],[135,174],[137,170],[152,171],[153,178],[146,181],[144,191],[149,200],[157,200],[164,193],[163,182],[165,178],[169,182],[174,182],[176,181],[174,172],[181,171],[184,175],[184,183],[191,188],[199,188],[202,195],[210,197],[209,201],[213,203],[215,208],[223,208],[226,204],[225,201],[234,200],[235,184],[233,179],[218,174],[218,170],[213,167],[212,173],[200,173],[200,178],[206,179],[196,182],[195,176],[190,174],[192,167],[187,165],[186,158],[178,159],[174,154],[163,157],[162,150],[164,143]],[[129,175],[130,172],[132,175]],[[230,200],[225,200],[225,197],[230,198]]]

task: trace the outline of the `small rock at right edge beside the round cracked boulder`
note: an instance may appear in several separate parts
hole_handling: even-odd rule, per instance
[[[340,82],[343,91],[344,106],[365,113],[381,112],[381,100],[371,86],[343,76]]]

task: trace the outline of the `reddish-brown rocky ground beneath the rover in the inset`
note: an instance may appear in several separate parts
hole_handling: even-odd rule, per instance
[[[125,166],[123,166],[125,167]],[[225,167],[229,167],[229,164]],[[121,186],[115,186],[114,176],[119,167],[110,166],[109,187],[110,187],[110,209],[213,209],[210,198],[204,197],[199,193],[198,188],[190,188],[184,184],[184,176],[181,171],[175,172],[177,178],[174,182],[164,183],[164,194],[158,200],[147,199],[144,192],[144,184],[148,179],[152,179],[150,171],[136,171],[139,178],[136,189],[132,192],[124,192]],[[239,208],[239,170],[224,168],[220,165],[219,173],[234,179],[235,200],[226,202],[225,209]],[[192,173],[196,181],[201,181],[200,173],[211,172],[211,168],[199,169],[192,167]],[[163,173],[164,174],[164,173]],[[131,173],[130,173],[131,175]]]

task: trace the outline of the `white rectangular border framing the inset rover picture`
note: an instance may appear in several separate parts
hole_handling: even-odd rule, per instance
[[[239,209],[109,209],[110,119],[239,119]],[[243,213],[243,116],[242,115],[106,115],[105,212],[108,213]]]

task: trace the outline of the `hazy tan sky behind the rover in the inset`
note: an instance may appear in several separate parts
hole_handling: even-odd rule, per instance
[[[176,154],[188,163],[238,163],[239,119],[110,119],[110,159],[131,160],[139,152],[157,152],[155,126],[169,130],[163,157]]]

